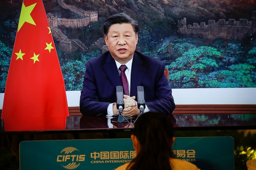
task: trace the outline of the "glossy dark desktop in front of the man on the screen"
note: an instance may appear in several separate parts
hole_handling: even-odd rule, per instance
[[[66,129],[127,129],[126,123],[111,122],[112,117],[69,116]],[[173,114],[169,115],[175,129],[256,129],[255,114]]]

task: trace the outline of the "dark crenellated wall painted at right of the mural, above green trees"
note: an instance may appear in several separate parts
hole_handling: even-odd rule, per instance
[[[193,23],[193,26],[187,26],[187,19],[183,18],[178,21],[178,33],[185,35],[196,35],[205,38],[222,38],[222,39],[242,39],[256,32],[256,11],[252,12],[252,21],[248,19],[219,19],[208,20],[208,25],[205,22]]]

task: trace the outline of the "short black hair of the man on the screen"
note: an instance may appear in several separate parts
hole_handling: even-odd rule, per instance
[[[106,19],[106,21],[103,24],[103,30],[104,34],[107,35],[110,26],[113,24],[122,24],[122,23],[128,23],[131,24],[133,27],[133,30],[135,33],[139,33],[139,25],[138,22],[132,19],[129,15],[125,13],[117,13],[114,15],[111,15]]]

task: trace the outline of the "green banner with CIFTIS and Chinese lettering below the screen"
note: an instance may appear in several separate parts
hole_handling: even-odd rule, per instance
[[[177,137],[173,152],[201,170],[234,169],[232,137]],[[20,170],[112,170],[134,156],[131,139],[23,141]]]

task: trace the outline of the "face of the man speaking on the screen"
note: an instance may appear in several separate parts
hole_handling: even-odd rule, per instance
[[[113,24],[105,35],[105,42],[112,57],[124,64],[132,59],[138,34],[134,32],[131,24]]]

